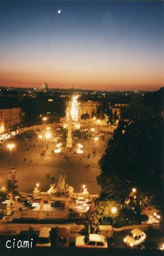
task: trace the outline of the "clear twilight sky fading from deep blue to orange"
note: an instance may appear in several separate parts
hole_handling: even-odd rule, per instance
[[[1,0],[0,86],[157,90],[163,5]]]

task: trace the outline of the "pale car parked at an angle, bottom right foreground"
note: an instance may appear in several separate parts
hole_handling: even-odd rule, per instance
[[[140,229],[133,229],[127,237],[124,238],[124,243],[127,246],[136,246],[144,242],[146,239],[146,234]]]

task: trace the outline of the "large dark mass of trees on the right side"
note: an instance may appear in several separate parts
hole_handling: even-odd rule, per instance
[[[163,212],[163,141],[161,109],[153,103],[146,105],[144,98],[134,98],[122,111],[100,160],[102,171],[97,181],[101,195],[123,204],[128,189],[136,187],[138,198],[147,196]]]

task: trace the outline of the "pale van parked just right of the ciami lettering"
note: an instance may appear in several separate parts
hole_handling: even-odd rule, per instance
[[[36,242],[36,246],[51,246],[50,243],[50,228],[41,228],[40,232],[38,234],[38,238],[37,238],[37,242]]]

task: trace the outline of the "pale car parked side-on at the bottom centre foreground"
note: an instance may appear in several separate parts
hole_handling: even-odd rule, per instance
[[[100,234],[90,234],[89,236],[76,237],[76,247],[82,248],[107,248],[106,237]]]

